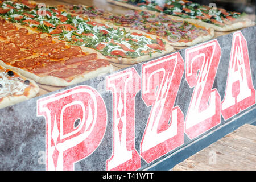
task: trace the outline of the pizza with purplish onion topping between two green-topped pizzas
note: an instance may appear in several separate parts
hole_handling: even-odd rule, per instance
[[[197,26],[183,20],[173,20],[157,12],[130,10],[125,14],[112,14],[93,6],[59,5],[58,7],[71,13],[82,14],[100,23],[159,36],[172,46],[192,46],[214,36],[213,28]]]

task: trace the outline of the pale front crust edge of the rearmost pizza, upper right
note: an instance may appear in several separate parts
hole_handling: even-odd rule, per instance
[[[107,0],[107,2],[112,3],[114,5],[127,7],[129,9],[143,10],[143,11],[148,11],[150,13],[159,13],[159,12],[156,12],[156,11],[147,10],[146,8],[142,8],[142,7],[135,6],[135,5],[130,5],[128,3],[118,2],[118,1],[115,1],[115,0]],[[244,19],[244,20],[241,19],[240,22],[236,22],[236,23],[233,23],[233,24],[230,24],[230,25],[226,25],[224,27],[219,27],[219,26],[216,26],[214,24],[202,22],[201,20],[197,20],[197,19],[181,18],[179,16],[173,16],[173,15],[168,15],[168,14],[166,14],[166,15],[169,16],[172,19],[175,19],[175,20],[183,20],[183,21],[185,20],[189,23],[195,23],[195,24],[198,24],[198,25],[206,27],[206,28],[213,28],[215,31],[219,31],[219,32],[233,31],[233,30],[238,30],[240,28],[245,28],[245,27],[250,27],[250,26],[255,25],[255,23],[250,19]]]

